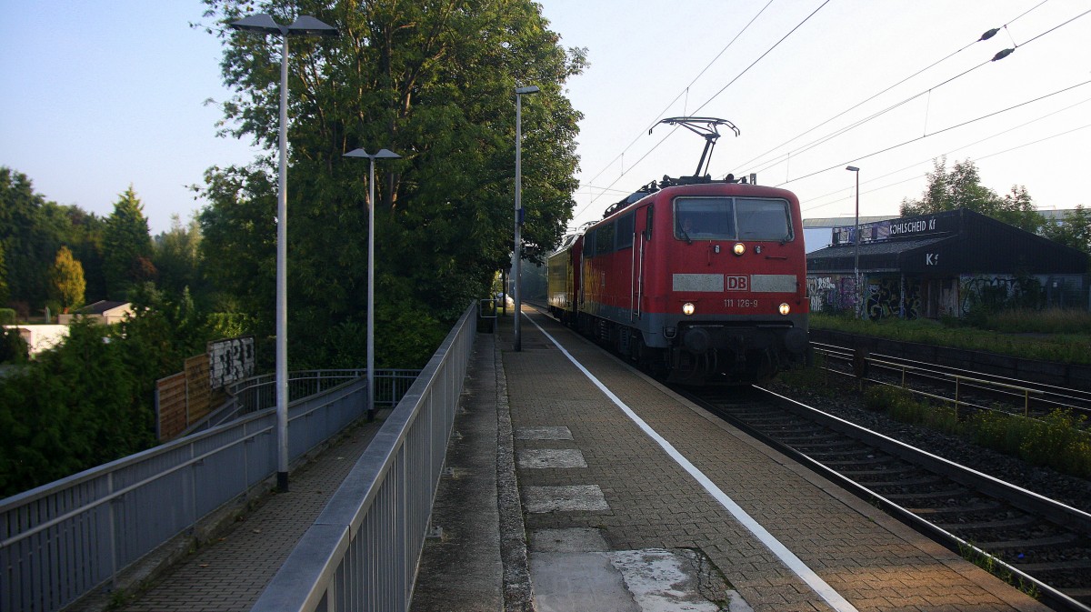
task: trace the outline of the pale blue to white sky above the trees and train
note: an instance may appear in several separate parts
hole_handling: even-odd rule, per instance
[[[948,168],[972,160],[997,193],[1026,187],[1042,209],[1091,205],[1089,0],[540,4],[589,61],[565,85],[584,113],[571,227],[640,184],[693,173],[705,141],[657,125],[687,115],[740,130],[721,128],[714,177],[754,172],[793,191],[804,218],[854,216],[848,165],[860,215],[895,215],[942,156]],[[202,205],[189,185],[207,167],[256,154],[216,135],[221,115],[205,100],[229,94],[219,41],[189,25],[202,20],[196,0],[0,8],[0,166],[46,199],[105,216],[132,184],[158,233]]]

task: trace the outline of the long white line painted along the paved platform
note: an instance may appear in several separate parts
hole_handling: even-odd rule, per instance
[[[651,429],[651,425],[646,423],[644,419],[638,417],[636,412],[633,411],[632,408],[630,408],[627,405],[625,405],[624,401],[621,400],[621,398],[619,398],[616,395],[613,394],[613,392],[607,388],[607,386],[602,384],[601,381],[596,379],[595,375],[587,370],[587,368],[584,368],[583,363],[576,361],[576,358],[573,357],[572,353],[570,353],[563,346],[561,346],[561,343],[559,343],[556,338],[551,336],[549,332],[547,332],[546,329],[542,329],[541,325],[539,325],[529,316],[527,316],[527,320],[533,323],[535,327],[538,327],[538,329],[542,334],[546,334],[546,337],[549,338],[554,345],[556,345],[556,348],[562,353],[564,353],[565,357],[568,358],[568,361],[571,361],[576,368],[578,368],[579,371],[583,372],[584,375],[587,376],[587,379],[595,384],[595,386],[599,387],[599,391],[606,394],[606,396],[609,397],[610,400],[614,403],[614,405],[621,408],[622,412],[624,412],[625,416],[627,416],[634,423],[636,423],[637,427],[644,430],[644,433],[648,434],[649,437],[655,440],[656,443],[659,444],[659,446],[662,447],[662,449],[666,451],[667,454],[670,455],[672,459],[674,459],[680,466],[682,466],[682,469],[690,472],[690,476],[692,476],[695,480],[697,480],[697,482],[699,482],[700,485],[704,487],[705,490],[708,491],[709,494],[711,494],[712,497],[715,497],[716,501],[720,503],[720,505],[722,505],[728,512],[730,512],[731,515],[734,516],[736,520],[739,520],[739,523],[741,523],[744,527],[746,527],[746,529],[748,529],[751,533],[753,533],[758,540],[762,541],[762,543],[764,543],[770,551],[772,551],[772,553],[777,555],[777,559],[779,559],[784,565],[787,565],[789,569],[791,569],[796,576],[800,577],[800,579],[802,579],[812,589],[814,589],[814,591],[818,593],[819,597],[826,600],[826,603],[829,603],[835,610],[838,610],[839,612],[859,612],[854,605],[849,603],[843,597],[841,597],[839,592],[834,590],[834,587],[829,586],[829,584],[826,583],[826,580],[823,580],[822,577],[818,576],[818,574],[815,574],[814,569],[807,567],[807,565],[803,563],[803,560],[795,556],[795,553],[788,550],[788,547],[786,547],[784,544],[780,543],[780,540],[774,537],[772,533],[769,533],[769,531],[767,531],[765,527],[762,527],[762,525],[757,520],[754,520],[754,518],[750,514],[747,514],[746,511],[740,507],[739,504],[734,502],[734,500],[729,497],[728,494],[724,493],[719,487],[717,487],[716,483],[712,482],[707,476],[705,476],[703,471],[697,469],[697,466],[693,465],[690,461],[690,459],[685,458],[685,456],[683,456],[682,453],[678,451],[678,448],[674,448],[674,445],[668,442],[663,436],[659,435],[659,433],[656,430]]]

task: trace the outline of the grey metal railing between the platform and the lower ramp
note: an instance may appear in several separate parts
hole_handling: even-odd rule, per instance
[[[408,610],[476,316],[471,304],[252,611]]]

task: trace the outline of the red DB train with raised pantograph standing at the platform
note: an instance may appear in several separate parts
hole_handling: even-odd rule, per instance
[[[550,312],[671,383],[748,384],[808,358],[800,203],[754,177],[663,177],[565,237],[549,256]]]

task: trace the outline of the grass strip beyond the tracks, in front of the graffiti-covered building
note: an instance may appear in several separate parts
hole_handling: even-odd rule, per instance
[[[959,320],[867,321],[811,314],[811,327],[891,340],[1091,365],[1091,313],[1074,310],[1005,310]]]

